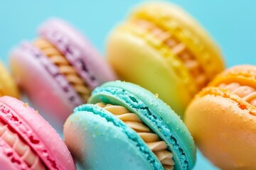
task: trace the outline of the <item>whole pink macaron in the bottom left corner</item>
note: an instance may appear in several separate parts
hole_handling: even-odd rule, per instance
[[[5,170],[75,169],[57,132],[16,98],[0,98],[0,167]]]

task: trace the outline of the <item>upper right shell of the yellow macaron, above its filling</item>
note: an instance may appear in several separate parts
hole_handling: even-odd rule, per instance
[[[183,36],[179,38],[201,62],[208,77],[213,78],[215,74],[225,68],[220,49],[206,33],[206,30],[189,13],[175,4],[167,2],[144,3],[134,8],[130,19],[135,18],[147,18],[149,21],[156,21],[161,26],[173,27],[176,35],[183,31]]]

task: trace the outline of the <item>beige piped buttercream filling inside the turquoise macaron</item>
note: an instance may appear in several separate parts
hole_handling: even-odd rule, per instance
[[[96,103],[95,105],[104,108],[117,118],[122,120],[129,128],[135,130],[146,145],[159,159],[165,170],[174,169],[173,154],[167,149],[166,142],[159,139],[158,135],[152,132],[135,113],[130,113],[124,106],[113,106],[111,104]]]

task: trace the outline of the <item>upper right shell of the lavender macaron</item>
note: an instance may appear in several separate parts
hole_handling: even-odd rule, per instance
[[[68,23],[62,21],[58,18],[50,19],[46,21],[39,28],[39,35],[43,38],[46,38],[50,42],[52,42],[58,50],[62,52],[64,55],[67,52],[65,45],[58,41],[58,38],[62,37],[65,41],[65,44],[69,45],[70,49],[74,50],[75,56],[65,56],[71,64],[75,67],[78,74],[82,75],[80,69],[80,64],[74,64],[78,62],[78,60],[82,60],[85,63],[88,72],[96,77],[96,81],[91,82],[89,79],[90,75],[85,75],[86,82],[90,85],[91,89],[94,89],[96,86],[106,82],[117,79],[112,69],[107,65],[107,62],[103,60],[100,54],[95,50],[92,45],[87,41],[87,39],[79,33],[77,30],[69,26]]]

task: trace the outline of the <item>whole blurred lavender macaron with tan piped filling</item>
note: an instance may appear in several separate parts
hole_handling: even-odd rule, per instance
[[[61,126],[75,106],[87,102],[92,89],[116,79],[87,39],[56,18],[40,26],[36,40],[18,45],[10,63],[33,106]]]

